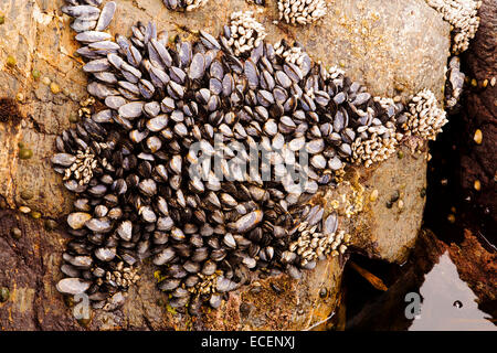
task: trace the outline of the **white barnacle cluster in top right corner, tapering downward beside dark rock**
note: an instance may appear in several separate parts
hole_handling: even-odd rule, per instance
[[[426,0],[427,4],[442,13],[451,23],[453,32],[452,52],[458,54],[467,50],[479,25],[477,17],[482,1],[476,0]]]

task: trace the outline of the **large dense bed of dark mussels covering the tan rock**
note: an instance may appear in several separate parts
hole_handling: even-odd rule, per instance
[[[103,32],[113,2],[101,18],[68,2],[82,21],[73,29],[85,29],[75,30],[87,90],[107,108],[56,138],[52,163],[77,195],[61,292],[105,307],[151,258],[171,307],[194,314],[258,274],[299,278],[346,252],[350,236],[313,195],[336,183],[355,146],[394,137],[400,103],[374,99],[297,43],[236,52],[230,25],[171,43],[140,22],[113,41]],[[252,165],[253,151],[266,163]]]

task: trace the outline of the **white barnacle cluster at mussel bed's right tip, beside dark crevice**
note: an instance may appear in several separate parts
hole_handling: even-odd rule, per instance
[[[412,97],[404,116],[402,128],[405,135],[426,140],[435,140],[436,135],[442,132],[442,127],[448,122],[446,113],[438,107],[435,95],[426,88]]]

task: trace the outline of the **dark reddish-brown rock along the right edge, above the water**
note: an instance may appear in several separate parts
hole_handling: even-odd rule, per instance
[[[477,82],[467,93],[461,131],[461,186],[472,194],[472,202],[497,224],[497,3],[483,1],[479,9],[482,22],[469,50],[463,56],[465,71]],[[491,86],[494,78],[495,85]],[[483,87],[487,81],[487,86]],[[482,130],[482,145],[475,143],[476,129]],[[482,189],[474,190],[475,180]],[[485,210],[486,208],[486,210]],[[491,227],[491,226],[490,226]]]

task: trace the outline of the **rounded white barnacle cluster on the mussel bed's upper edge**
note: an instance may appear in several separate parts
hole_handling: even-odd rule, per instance
[[[228,44],[235,55],[252,51],[266,38],[266,29],[254,18],[253,11],[237,11],[231,14]]]

